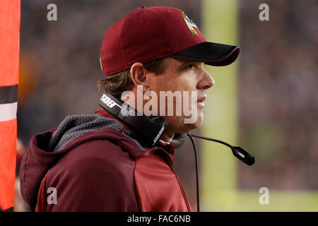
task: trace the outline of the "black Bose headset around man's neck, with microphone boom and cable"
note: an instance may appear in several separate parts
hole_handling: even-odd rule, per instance
[[[112,114],[113,117],[116,117],[124,124],[133,129],[136,133],[141,136],[141,143],[146,145],[149,148],[155,147],[160,138],[165,133],[168,123],[162,117],[146,117],[141,112],[131,107],[126,102],[120,100],[120,97],[111,95],[110,93],[104,93],[98,105],[105,109],[106,112]],[[253,165],[255,162],[255,157],[247,153],[246,150],[240,147],[232,146],[224,141],[219,141],[213,138],[208,138],[206,136],[199,136],[192,133],[175,133],[170,144],[175,145],[175,148],[181,147],[189,136],[192,141],[194,148],[194,157],[196,162],[196,199],[197,199],[197,210],[200,212],[199,206],[199,179],[198,179],[198,161],[196,155],[196,146],[194,145],[194,140],[192,137],[205,139],[207,141],[214,141],[222,143],[223,145],[228,146],[232,150],[232,154],[235,155],[239,160],[245,162],[246,165]]]

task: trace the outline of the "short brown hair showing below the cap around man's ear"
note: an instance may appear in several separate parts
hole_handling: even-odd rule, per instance
[[[166,68],[165,59],[166,58],[155,59],[154,61],[143,64],[143,66],[148,71],[160,75]],[[131,80],[130,69],[127,69],[101,79],[97,85],[99,90],[103,90],[114,96],[120,96],[124,91],[131,90],[134,83]]]

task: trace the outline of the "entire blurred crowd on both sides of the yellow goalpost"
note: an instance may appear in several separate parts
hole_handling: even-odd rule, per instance
[[[47,20],[49,3],[57,4],[57,21]],[[259,20],[261,3],[239,1],[240,145],[258,160],[253,170],[239,165],[239,186],[266,182],[273,189],[318,189],[317,2],[267,1],[269,21]],[[57,127],[68,114],[99,109],[104,32],[143,5],[181,8],[200,28],[201,1],[21,1],[21,145],[27,147],[31,136]],[[175,165],[196,210],[190,147],[187,142],[178,151]]]

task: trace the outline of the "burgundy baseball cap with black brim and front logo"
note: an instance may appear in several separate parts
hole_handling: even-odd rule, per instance
[[[206,42],[199,28],[177,8],[137,8],[105,32],[100,65],[105,76],[163,57],[204,62],[213,66],[231,64],[240,47]]]

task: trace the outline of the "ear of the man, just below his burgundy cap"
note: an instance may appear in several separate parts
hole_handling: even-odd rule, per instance
[[[148,90],[149,88],[149,81],[147,78],[147,71],[143,64],[136,62],[134,63],[130,68],[130,76],[131,80],[133,81],[134,85],[137,87],[137,85],[142,85],[143,90]]]

